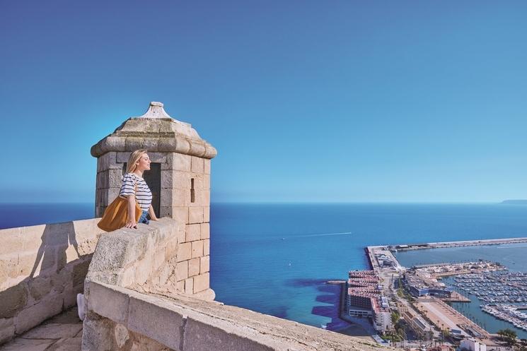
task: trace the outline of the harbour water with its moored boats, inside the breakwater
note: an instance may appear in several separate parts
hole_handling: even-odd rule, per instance
[[[526,328],[523,328],[527,321],[521,319],[521,315],[519,318],[502,308],[502,305],[509,305],[514,306],[516,311],[522,311],[527,305],[527,286],[524,283],[527,281],[526,245],[521,240],[523,238],[502,240],[499,244],[495,244],[494,240],[477,240],[473,246],[470,246],[470,242],[463,242],[463,246],[453,245],[437,250],[399,251],[395,256],[402,266],[427,266],[429,263],[465,262],[482,258],[499,262],[506,269],[444,275],[441,281],[470,299],[470,302],[444,301],[490,333],[510,328],[519,338],[527,338]],[[489,244],[482,245],[481,242]]]

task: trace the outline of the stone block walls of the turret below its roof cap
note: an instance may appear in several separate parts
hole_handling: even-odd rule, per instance
[[[95,215],[102,215],[118,195],[128,152],[108,152],[98,157]],[[183,225],[178,230],[178,269],[175,290],[212,296],[209,290],[210,262],[210,171],[211,160],[183,153],[149,152],[161,164],[161,209]]]

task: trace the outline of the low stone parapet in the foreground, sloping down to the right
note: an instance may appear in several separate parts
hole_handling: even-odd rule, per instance
[[[358,338],[185,295],[144,295],[87,283],[83,351],[373,351]],[[393,349],[391,349],[393,350]]]

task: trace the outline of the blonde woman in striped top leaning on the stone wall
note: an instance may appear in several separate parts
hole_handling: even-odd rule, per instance
[[[135,150],[128,158],[127,174],[122,178],[122,186],[119,196],[128,198],[128,222],[127,228],[136,228],[135,222],[135,203],[143,210],[139,223],[149,224],[146,215],[150,215],[151,220],[157,220],[156,213],[152,207],[152,193],[143,179],[143,172],[150,170],[150,158],[146,154],[147,150]]]

